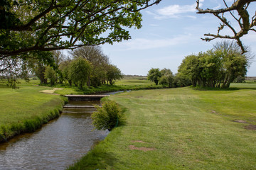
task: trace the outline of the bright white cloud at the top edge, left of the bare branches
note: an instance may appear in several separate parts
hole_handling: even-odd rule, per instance
[[[203,1],[202,1],[203,2]],[[155,13],[146,11],[151,16],[154,16],[156,19],[164,19],[164,18],[180,18],[180,17],[190,17],[190,18],[196,18],[196,16],[191,15],[185,15],[182,16],[184,13],[196,13],[196,3],[192,5],[171,5],[166,6],[164,8],[160,8]]]

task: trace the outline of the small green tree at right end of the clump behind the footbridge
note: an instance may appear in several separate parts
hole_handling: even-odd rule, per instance
[[[120,69],[115,65],[109,64],[107,67],[107,81],[110,81],[110,84],[114,84],[114,80],[122,79],[124,76]]]

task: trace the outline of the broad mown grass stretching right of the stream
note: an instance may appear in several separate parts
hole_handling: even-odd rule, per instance
[[[70,169],[256,169],[256,86],[131,91],[115,128]]]

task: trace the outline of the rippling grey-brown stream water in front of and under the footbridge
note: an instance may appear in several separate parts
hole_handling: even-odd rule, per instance
[[[74,102],[69,104],[100,104],[99,101]],[[75,110],[63,109],[60,118],[41,130],[1,143],[0,169],[65,169],[86,154],[108,132],[93,130],[90,114],[94,109]]]

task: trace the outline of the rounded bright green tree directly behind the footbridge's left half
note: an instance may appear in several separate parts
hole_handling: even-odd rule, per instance
[[[80,89],[82,89],[82,86],[84,86],[89,79],[90,69],[90,63],[82,57],[78,57],[78,59],[73,60],[70,63],[69,76],[72,81],[80,87]]]

